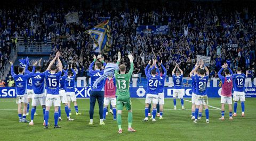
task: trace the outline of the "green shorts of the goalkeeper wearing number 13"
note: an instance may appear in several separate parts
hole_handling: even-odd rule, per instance
[[[117,96],[116,98],[116,109],[123,110],[125,106],[126,110],[132,110],[132,100],[130,97]]]

